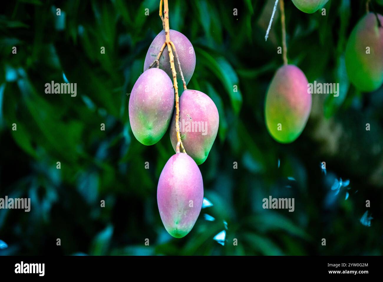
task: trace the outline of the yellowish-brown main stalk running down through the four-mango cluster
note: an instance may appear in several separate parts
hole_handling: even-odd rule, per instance
[[[172,41],[170,41],[170,33],[169,33],[169,5],[168,0],[160,1],[160,17],[162,18],[162,2],[164,2],[164,22],[165,22],[165,44],[168,48],[169,58],[170,58],[170,69],[172,70],[173,75],[173,86],[175,92],[175,129],[177,132],[177,148],[176,153],[180,152],[180,147],[183,153],[186,153],[185,148],[183,147],[181,135],[180,135],[180,125],[178,120],[180,118],[180,102],[178,97],[178,85],[177,85],[177,73],[175,71],[174,66],[174,55],[172,51]],[[173,44],[174,46],[174,44]],[[185,83],[185,82],[184,82]]]

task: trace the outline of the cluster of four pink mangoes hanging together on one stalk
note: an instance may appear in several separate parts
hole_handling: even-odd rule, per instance
[[[188,84],[196,63],[193,45],[185,35],[175,30],[170,30],[170,38],[177,49],[183,77]],[[164,42],[163,30],[151,43],[144,72],[131,91],[129,121],[134,137],[144,145],[153,145],[164,136],[172,120],[170,141],[176,151],[175,92],[167,46],[159,58],[159,68],[149,68]],[[178,89],[183,88],[180,75],[177,75],[177,84]],[[169,234],[176,238],[186,236],[200,214],[203,180],[198,165],[208,157],[219,126],[218,109],[203,92],[190,89],[183,91],[179,109],[180,136],[187,153],[176,153],[170,157],[157,186],[157,204],[162,223]]]

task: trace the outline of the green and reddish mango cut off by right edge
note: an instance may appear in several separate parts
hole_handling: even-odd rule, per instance
[[[383,26],[383,16],[378,14]],[[366,47],[370,54],[366,54]],[[383,27],[373,13],[357,23],[347,41],[346,70],[350,82],[360,91],[372,92],[383,84]]]

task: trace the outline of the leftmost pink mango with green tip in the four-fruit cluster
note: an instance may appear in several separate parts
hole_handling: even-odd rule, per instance
[[[169,76],[151,68],[137,79],[129,98],[129,121],[134,137],[153,145],[169,127],[174,107],[174,90]]]

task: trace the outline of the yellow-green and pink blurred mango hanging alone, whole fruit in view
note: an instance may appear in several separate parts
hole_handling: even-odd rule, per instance
[[[265,121],[270,135],[280,143],[299,137],[311,111],[308,81],[300,68],[284,65],[275,73],[265,99]],[[278,130],[278,124],[282,130]]]

